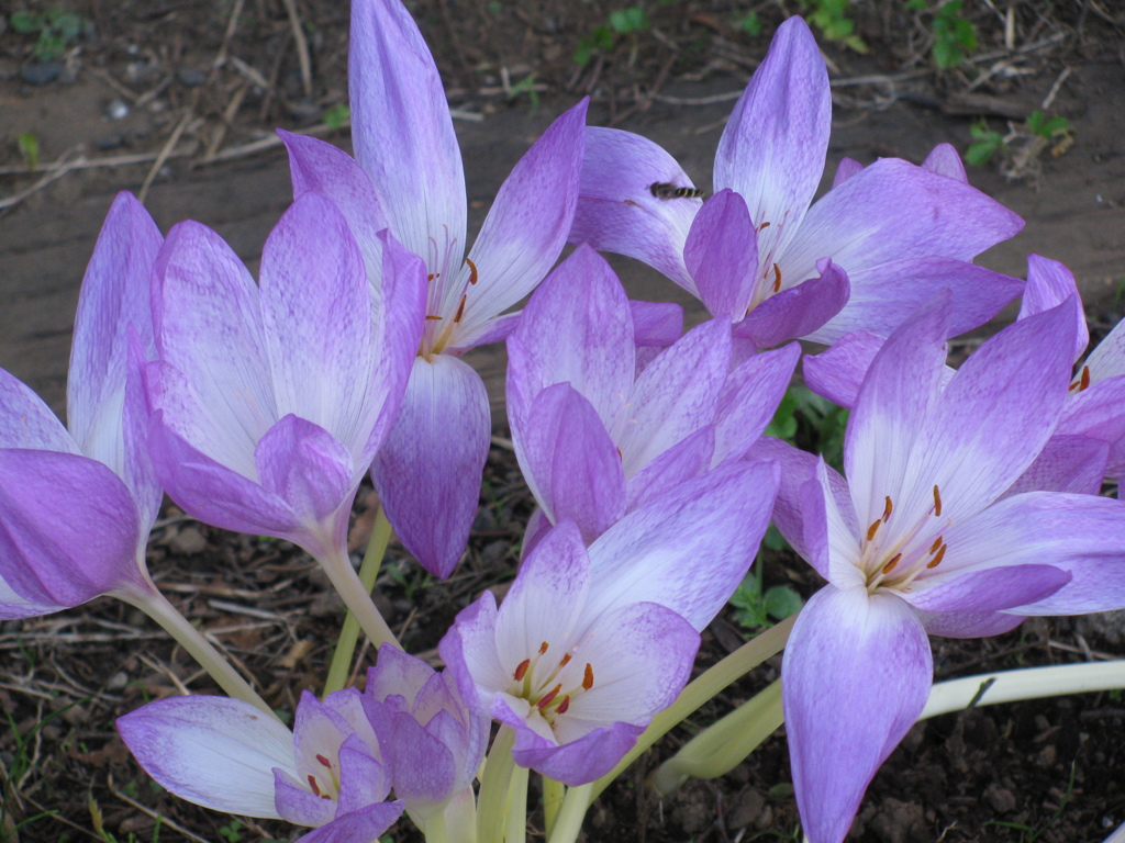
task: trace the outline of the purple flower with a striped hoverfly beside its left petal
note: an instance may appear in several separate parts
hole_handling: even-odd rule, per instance
[[[672,156],[637,135],[590,128],[570,239],[645,261],[757,347],[858,329],[885,336],[939,285],[953,287],[954,334],[1015,298],[1017,279],[969,261],[1023,223],[970,188],[948,149],[926,167],[843,165],[813,203],[830,114],[824,60],[791,18],[719,142],[716,196],[669,198],[662,185],[691,187]]]

